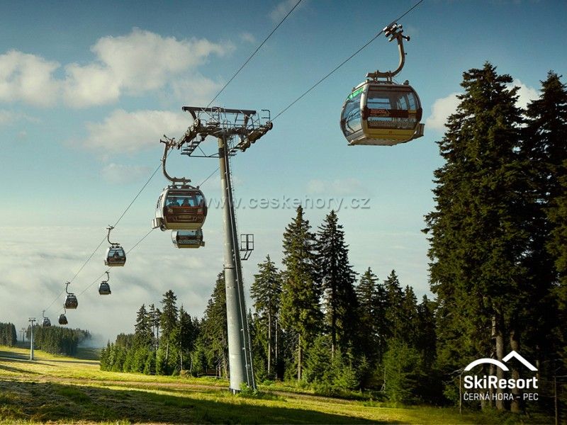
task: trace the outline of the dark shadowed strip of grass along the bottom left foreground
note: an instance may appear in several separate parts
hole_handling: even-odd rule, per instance
[[[376,424],[313,410],[162,395],[142,390],[0,380],[0,420],[167,424]],[[386,423],[386,422],[383,422]],[[397,422],[388,422],[397,423]]]

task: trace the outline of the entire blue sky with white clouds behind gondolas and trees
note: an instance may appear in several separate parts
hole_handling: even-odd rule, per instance
[[[159,165],[159,137],[191,124],[181,106],[207,104],[296,1],[4,2],[0,18],[0,321],[21,327],[56,300]],[[415,1],[303,0],[215,101],[228,108],[271,110],[272,117],[408,10]],[[426,0],[401,24],[408,79],[424,107],[425,137],[396,147],[347,147],[339,114],[366,72],[393,69],[398,53],[381,36],[274,120],[274,130],[232,162],[240,232],[256,235],[246,285],[266,254],[279,262],[293,198],[314,228],[334,199],[368,198],[369,209],[341,208],[350,258],[379,278],[395,269],[403,285],[428,293],[423,215],[433,208],[432,172],[442,164],[436,140],[454,111],[462,73],[489,61],[535,98],[549,69],[567,60],[564,1]],[[203,149],[214,152],[215,141]],[[169,170],[201,183],[214,159],[174,157]],[[166,186],[158,173],[120,221],[113,239],[129,249],[150,229]],[[203,191],[220,197],[218,174]],[[288,205],[250,208],[250,200]],[[111,271],[111,297],[99,297],[103,247],[70,290],[81,293],[72,327],[103,339],[131,331],[142,303],[173,289],[201,316],[222,270],[222,215],[211,208],[206,248],[174,249],[156,230]],[[92,285],[91,285],[92,284]],[[89,286],[90,285],[90,286]],[[101,299],[102,298],[102,299]],[[103,320],[93,323],[96,317]]]

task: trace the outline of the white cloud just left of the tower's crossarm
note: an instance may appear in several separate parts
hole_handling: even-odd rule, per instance
[[[102,123],[86,123],[89,137],[82,144],[106,153],[137,152],[155,147],[164,134],[184,133],[190,124],[183,113],[117,109]]]

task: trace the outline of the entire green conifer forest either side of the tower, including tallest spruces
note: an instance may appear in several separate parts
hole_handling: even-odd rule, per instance
[[[542,387],[566,371],[567,89],[550,71],[522,109],[512,81],[488,62],[463,74],[437,142],[434,208],[424,211],[429,295],[395,270],[354,270],[337,212],[312,225],[296,210],[272,253],[281,264],[266,256],[249,283],[257,382],[441,405],[459,404],[463,368],[477,358],[521,352]],[[226,378],[222,271],[211,288],[203,317],[172,290],[140,306],[134,333],[108,343],[101,368]],[[485,367],[499,378],[526,373]],[[523,409],[521,397],[468,404]]]

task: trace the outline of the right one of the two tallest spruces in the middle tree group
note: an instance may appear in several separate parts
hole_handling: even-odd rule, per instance
[[[337,214],[331,211],[318,227],[316,264],[318,283],[323,290],[325,322],[331,335],[331,357],[337,344],[346,350],[357,327],[356,273],[349,264],[349,250]]]

